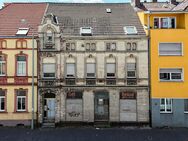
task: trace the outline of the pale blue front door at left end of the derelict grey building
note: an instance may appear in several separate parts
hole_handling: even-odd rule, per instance
[[[55,98],[47,98],[47,119],[55,119]]]

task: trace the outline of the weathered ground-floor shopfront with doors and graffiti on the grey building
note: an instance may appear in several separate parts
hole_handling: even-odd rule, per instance
[[[38,121],[149,123],[147,88],[39,88]]]

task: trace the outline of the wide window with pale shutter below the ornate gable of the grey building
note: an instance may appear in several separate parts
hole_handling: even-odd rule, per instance
[[[44,78],[54,78],[55,77],[55,64],[54,63],[44,63],[43,64],[43,77]]]

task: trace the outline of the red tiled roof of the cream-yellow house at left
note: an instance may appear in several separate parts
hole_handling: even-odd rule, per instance
[[[28,36],[37,35],[47,4],[45,3],[9,3],[0,10],[0,36],[15,36],[19,28],[28,28]],[[21,22],[25,19],[25,23]],[[23,21],[23,20],[22,20]]]

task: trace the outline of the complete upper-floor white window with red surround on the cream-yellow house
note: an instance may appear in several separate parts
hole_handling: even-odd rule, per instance
[[[26,76],[26,56],[17,56],[17,76]]]

